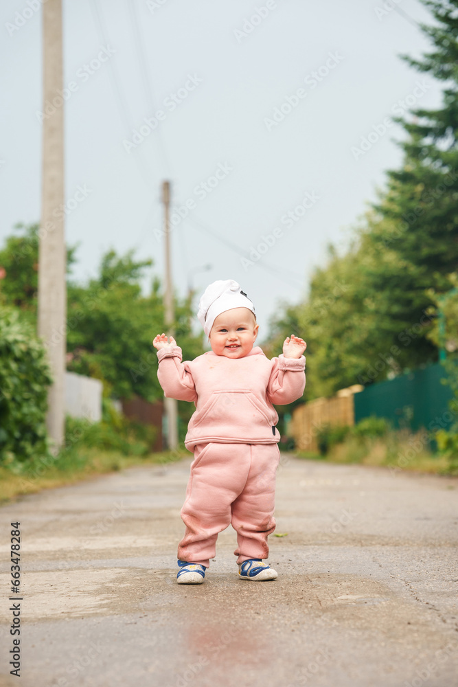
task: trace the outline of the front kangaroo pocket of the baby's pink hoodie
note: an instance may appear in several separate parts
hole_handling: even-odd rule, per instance
[[[249,389],[217,391],[194,414],[192,427],[199,427],[204,421],[206,425],[218,427],[240,422],[271,427],[275,418],[270,418],[267,410]]]

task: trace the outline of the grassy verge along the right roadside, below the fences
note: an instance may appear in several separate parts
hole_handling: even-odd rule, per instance
[[[390,431],[385,436],[349,436],[332,444],[325,455],[297,451],[299,458],[326,460],[341,464],[388,467],[391,470],[417,471],[439,475],[456,475],[455,465],[445,453],[433,453],[421,433]]]

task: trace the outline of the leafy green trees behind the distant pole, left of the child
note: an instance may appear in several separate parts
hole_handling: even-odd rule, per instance
[[[139,280],[152,260],[135,261],[133,251],[108,251],[100,275],[86,286],[69,283],[67,350],[69,370],[104,381],[105,393],[117,398],[138,394],[163,398],[157,380],[157,351],[152,339],[165,330],[160,282],[141,295]],[[203,352],[190,329],[190,304],[176,299],[176,339],[184,357]]]

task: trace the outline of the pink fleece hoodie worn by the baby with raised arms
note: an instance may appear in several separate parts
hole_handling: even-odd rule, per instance
[[[166,398],[194,401],[185,447],[205,442],[272,444],[280,440],[273,407],[304,394],[306,358],[269,360],[260,346],[231,359],[212,350],[181,362],[179,346],[157,352],[157,376]]]

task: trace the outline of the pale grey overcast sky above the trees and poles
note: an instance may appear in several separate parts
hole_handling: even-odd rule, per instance
[[[40,217],[38,4],[0,7],[0,243]],[[404,131],[389,117],[441,102],[439,83],[398,57],[431,49],[417,0],[63,0],[63,12],[73,278],[94,276],[111,247],[154,260],[145,293],[162,277],[170,179],[176,293],[237,280],[260,343],[399,166]]]

